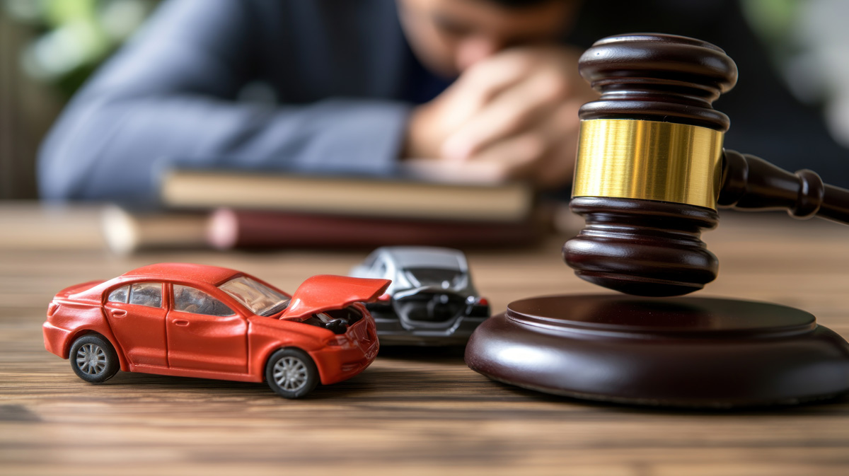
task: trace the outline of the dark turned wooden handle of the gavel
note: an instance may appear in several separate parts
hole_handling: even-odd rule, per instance
[[[825,184],[807,169],[790,173],[754,155],[728,149],[722,154],[720,207],[787,210],[796,218],[819,216],[849,224],[849,190]]]

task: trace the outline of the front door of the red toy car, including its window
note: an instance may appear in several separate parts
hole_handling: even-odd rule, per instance
[[[166,317],[172,368],[248,372],[248,324],[244,316],[197,288],[173,284]]]

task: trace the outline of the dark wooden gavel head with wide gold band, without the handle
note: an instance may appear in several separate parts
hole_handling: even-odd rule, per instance
[[[571,210],[586,226],[563,246],[579,277],[627,294],[687,294],[717,276],[700,239],[717,225],[722,135],[711,103],[737,81],[722,49],[684,36],[610,36],[581,57],[601,93],[580,111]]]

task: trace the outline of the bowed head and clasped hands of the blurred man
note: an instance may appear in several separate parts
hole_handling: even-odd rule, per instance
[[[402,156],[486,161],[543,187],[574,165],[577,110],[595,94],[577,74],[569,0],[401,0],[407,40],[442,76],[459,76],[413,109]]]

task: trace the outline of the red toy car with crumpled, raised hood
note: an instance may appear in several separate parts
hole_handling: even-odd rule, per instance
[[[44,346],[87,382],[118,369],[263,382],[299,398],[351,378],[378,351],[361,301],[390,281],[314,276],[289,295],[243,272],[161,263],[56,294]]]

